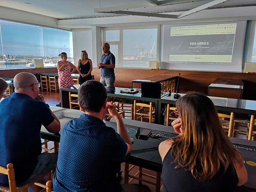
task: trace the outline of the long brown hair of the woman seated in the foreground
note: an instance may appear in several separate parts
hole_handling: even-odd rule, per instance
[[[176,102],[183,132],[172,138],[172,157],[178,165],[199,180],[211,179],[224,166],[234,167],[242,156],[220,125],[212,101],[198,93],[187,94]]]

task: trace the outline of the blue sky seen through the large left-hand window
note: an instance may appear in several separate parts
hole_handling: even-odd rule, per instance
[[[60,52],[70,54],[73,45],[70,42],[70,31],[52,28],[41,28],[33,25],[0,20],[4,54],[58,56]],[[43,38],[42,38],[43,29]],[[43,53],[44,40],[44,53]],[[2,46],[0,46],[0,53]]]

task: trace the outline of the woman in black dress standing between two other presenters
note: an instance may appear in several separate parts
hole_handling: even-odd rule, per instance
[[[85,50],[81,53],[81,59],[79,59],[78,61],[77,71],[80,74],[80,85],[83,84],[85,81],[92,80],[92,60],[88,58],[88,54]]]

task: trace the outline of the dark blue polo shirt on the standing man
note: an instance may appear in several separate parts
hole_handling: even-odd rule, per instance
[[[101,56],[100,62],[103,64],[107,64],[107,65],[116,64],[116,58],[111,52],[108,52],[107,55],[105,55],[105,53],[103,53],[103,55]],[[115,76],[114,68],[101,67],[100,73],[101,73],[102,77],[114,77]]]

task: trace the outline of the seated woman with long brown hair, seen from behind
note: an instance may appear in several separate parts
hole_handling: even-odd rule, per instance
[[[176,102],[175,138],[163,141],[163,192],[234,191],[247,181],[241,153],[220,125],[212,101],[198,93]]]

